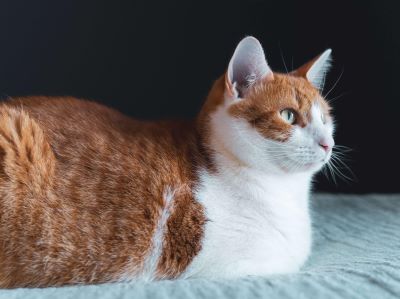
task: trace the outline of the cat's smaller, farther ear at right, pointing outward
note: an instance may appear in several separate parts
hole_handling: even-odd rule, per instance
[[[326,73],[331,67],[331,53],[331,49],[325,50],[322,54],[302,65],[292,73],[296,76],[306,78],[317,89],[322,90],[325,83]]]

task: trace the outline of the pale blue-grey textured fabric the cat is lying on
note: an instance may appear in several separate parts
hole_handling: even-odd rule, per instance
[[[311,207],[314,248],[297,274],[0,290],[0,298],[400,298],[400,195],[319,194]]]

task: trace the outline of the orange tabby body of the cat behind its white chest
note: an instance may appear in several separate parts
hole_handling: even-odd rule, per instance
[[[191,196],[195,139],[191,123],[74,98],[0,104],[0,286],[178,275],[204,221]],[[187,229],[150,251],[169,198],[163,225]]]

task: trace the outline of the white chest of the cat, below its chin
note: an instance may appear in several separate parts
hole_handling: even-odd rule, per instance
[[[309,180],[203,175],[202,250],[188,276],[235,277],[298,269],[310,250]]]

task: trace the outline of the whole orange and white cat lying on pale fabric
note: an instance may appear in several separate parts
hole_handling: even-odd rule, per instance
[[[331,50],[272,72],[240,41],[193,121],[72,97],[0,104],[0,287],[292,273],[330,159]]]

